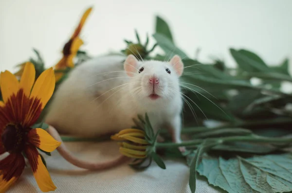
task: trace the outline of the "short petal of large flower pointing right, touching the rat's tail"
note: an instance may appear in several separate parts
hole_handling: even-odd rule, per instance
[[[46,152],[52,152],[61,145],[61,142],[56,141],[47,131],[40,128],[31,129],[28,138],[31,144]]]

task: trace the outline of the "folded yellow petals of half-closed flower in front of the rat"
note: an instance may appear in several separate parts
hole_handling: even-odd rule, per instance
[[[145,132],[140,129],[124,129],[111,136],[112,140],[124,141],[120,145],[120,153],[130,157],[143,159],[146,158],[146,148],[149,143],[145,139]]]

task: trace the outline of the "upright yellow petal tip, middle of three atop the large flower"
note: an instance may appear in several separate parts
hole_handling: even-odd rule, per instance
[[[24,66],[23,74],[20,79],[20,88],[26,96],[29,96],[36,79],[36,70],[34,64],[27,62]]]

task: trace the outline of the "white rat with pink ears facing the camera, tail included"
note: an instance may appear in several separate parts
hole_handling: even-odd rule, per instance
[[[103,56],[80,64],[55,93],[45,119],[51,126],[48,131],[57,141],[62,140],[55,128],[91,137],[116,133],[134,126],[138,114],[147,113],[155,132],[164,127],[172,141],[180,143],[182,73],[183,62],[177,55],[169,62],[138,61],[128,55]],[[90,163],[74,157],[63,143],[57,150],[67,161],[86,169],[110,168],[126,160],[121,156]]]

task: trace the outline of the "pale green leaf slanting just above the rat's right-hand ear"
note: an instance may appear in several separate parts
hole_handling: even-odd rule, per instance
[[[167,55],[167,59],[172,58],[174,55],[179,55],[181,58],[186,58],[186,54],[179,48],[177,48],[173,42],[171,42],[164,34],[153,34],[158,46],[162,48]]]

